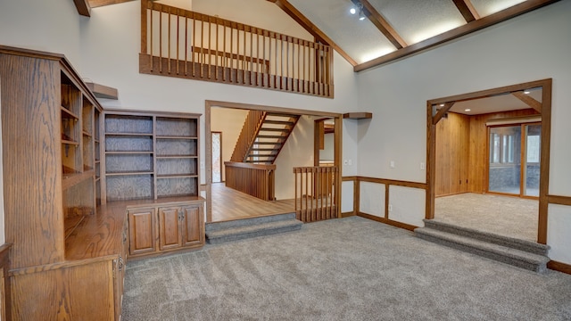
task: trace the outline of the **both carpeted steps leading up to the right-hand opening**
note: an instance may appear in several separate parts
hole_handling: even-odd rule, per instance
[[[435,219],[425,219],[424,222],[425,227],[416,228],[414,233],[426,241],[535,272],[547,269],[550,260],[547,257],[548,245],[454,226]]]

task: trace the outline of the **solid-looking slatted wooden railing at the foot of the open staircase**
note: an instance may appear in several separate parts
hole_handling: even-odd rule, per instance
[[[226,185],[263,201],[276,200],[276,165],[225,161]]]

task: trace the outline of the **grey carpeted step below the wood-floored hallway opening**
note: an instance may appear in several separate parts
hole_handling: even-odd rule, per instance
[[[302,221],[295,219],[295,213],[213,222],[206,224],[206,242],[217,244],[262,235],[273,235],[296,231],[302,226]]]

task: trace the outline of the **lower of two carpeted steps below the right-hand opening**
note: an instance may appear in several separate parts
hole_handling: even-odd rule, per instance
[[[544,272],[547,269],[547,262],[550,260],[544,255],[477,240],[465,235],[443,232],[430,227],[418,227],[414,230],[414,233],[426,241],[443,244],[461,251],[468,251],[484,258],[495,259],[535,272]]]

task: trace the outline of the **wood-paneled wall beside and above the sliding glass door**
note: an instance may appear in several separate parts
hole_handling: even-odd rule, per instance
[[[454,112],[436,125],[436,196],[485,193],[488,177],[486,122],[538,115],[533,109],[502,111],[475,116]]]

